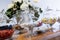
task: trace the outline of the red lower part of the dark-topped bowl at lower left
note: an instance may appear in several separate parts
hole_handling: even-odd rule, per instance
[[[14,30],[0,30],[0,38],[1,39],[7,39],[12,37]]]

